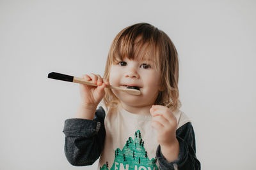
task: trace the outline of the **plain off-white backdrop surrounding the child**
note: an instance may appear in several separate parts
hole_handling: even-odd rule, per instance
[[[71,166],[64,121],[79,85],[52,71],[104,73],[124,27],[166,32],[180,60],[181,110],[193,123],[202,169],[255,169],[255,1],[0,1],[0,169]]]

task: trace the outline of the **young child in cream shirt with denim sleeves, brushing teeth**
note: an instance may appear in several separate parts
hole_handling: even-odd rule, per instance
[[[113,40],[104,77],[85,74],[76,118],[65,121],[65,154],[74,166],[98,169],[200,169],[195,134],[179,110],[179,62],[170,38],[140,23]],[[140,90],[139,96],[105,89]],[[98,109],[100,101],[103,103]]]

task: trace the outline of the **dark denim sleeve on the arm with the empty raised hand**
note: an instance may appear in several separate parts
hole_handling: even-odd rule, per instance
[[[157,147],[156,157],[159,169],[200,170],[200,162],[196,159],[195,133],[191,122],[177,129],[176,138],[180,149],[178,159],[173,162],[164,159],[160,145]]]

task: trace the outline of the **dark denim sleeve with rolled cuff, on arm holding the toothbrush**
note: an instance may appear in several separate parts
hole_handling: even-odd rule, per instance
[[[92,165],[99,159],[106,131],[105,111],[100,107],[93,120],[70,118],[65,120],[65,155],[73,166]]]

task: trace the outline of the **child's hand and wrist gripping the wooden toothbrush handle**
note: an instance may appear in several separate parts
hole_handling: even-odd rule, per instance
[[[84,74],[82,77],[86,81],[92,81],[96,86],[80,84],[81,104],[89,108],[97,108],[98,104],[105,96],[104,88],[109,85],[108,81],[101,78],[99,74]]]

